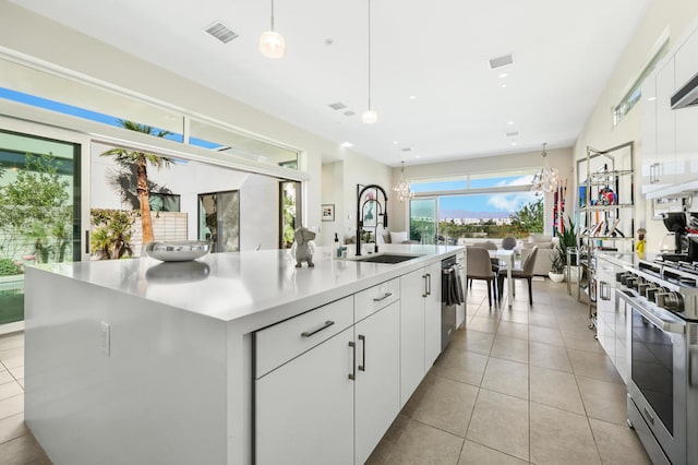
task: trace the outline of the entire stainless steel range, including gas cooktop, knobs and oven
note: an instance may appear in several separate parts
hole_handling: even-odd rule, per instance
[[[655,464],[698,464],[698,263],[626,266],[628,422]]]

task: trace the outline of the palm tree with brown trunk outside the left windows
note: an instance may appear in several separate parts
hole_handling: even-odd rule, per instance
[[[148,135],[155,135],[157,138],[164,138],[169,134],[169,131],[163,131],[151,126],[141,124],[129,120],[119,120],[119,123],[123,128],[142,132]],[[136,192],[139,194],[139,202],[141,203],[141,226],[143,229],[143,245],[152,242],[153,237],[153,220],[151,218],[151,195],[148,193],[148,172],[147,165],[151,164],[158,169],[163,166],[169,166],[172,163],[171,158],[149,154],[139,151],[129,151],[122,147],[115,147],[100,156],[111,156],[122,167],[130,167],[135,165],[136,167]]]

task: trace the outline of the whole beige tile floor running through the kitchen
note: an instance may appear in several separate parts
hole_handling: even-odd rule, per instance
[[[564,284],[517,284],[512,310],[468,294],[458,331],[371,464],[649,464],[625,386]],[[0,464],[50,464],[24,426],[24,336],[0,336]]]

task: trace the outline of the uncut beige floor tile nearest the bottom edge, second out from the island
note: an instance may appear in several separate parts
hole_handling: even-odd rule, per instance
[[[528,401],[480,390],[467,439],[528,461]]]

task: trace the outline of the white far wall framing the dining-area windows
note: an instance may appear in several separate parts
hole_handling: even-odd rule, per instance
[[[430,165],[405,166],[405,177],[407,179],[435,178],[458,175],[473,175],[481,172],[496,172],[503,169],[533,168],[537,169],[542,164],[541,152],[527,152],[520,154],[488,156],[481,158],[466,158],[458,162],[446,162]],[[565,199],[565,217],[573,213],[570,205],[574,205],[575,189],[573,174],[573,151],[571,148],[546,150],[547,163],[552,168],[556,168],[563,179],[567,179],[567,196]],[[390,186],[397,183],[400,178],[400,168],[393,169],[393,180]],[[545,218],[553,208],[553,194],[545,194]],[[407,230],[408,202],[393,202],[389,205],[390,230]],[[545,231],[551,233],[551,224],[545,222]]]

